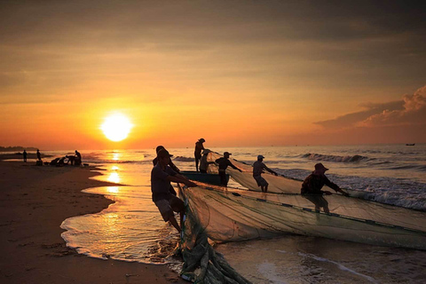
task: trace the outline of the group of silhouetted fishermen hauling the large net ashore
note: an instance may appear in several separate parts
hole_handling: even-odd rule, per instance
[[[195,170],[201,173],[207,173],[209,164],[216,164],[218,168],[218,175],[220,177],[220,184],[227,186],[228,180],[226,178],[226,169],[228,167],[233,168],[242,172],[241,169],[237,168],[229,160],[231,153],[225,152],[223,157],[218,158],[215,162],[209,162],[208,156],[211,150],[204,148],[203,143],[206,140],[204,138],[198,139],[195,142],[194,157],[195,157]],[[170,154],[164,146],[157,146],[155,149],[156,157],[154,158],[154,168],[151,171],[151,191],[155,205],[162,214],[162,218],[165,222],[170,222],[177,231],[182,231],[182,222],[185,215],[185,204],[182,200],[177,197],[177,193],[174,190],[170,182],[182,183],[187,186],[197,186],[191,180],[180,174],[180,170],[171,161]],[[200,167],[199,167],[200,166]],[[278,173],[274,170],[269,169],[264,164],[264,156],[262,154],[257,155],[257,161],[253,163],[253,178],[256,180],[256,185],[260,187],[262,193],[268,192],[268,182],[262,174],[264,171],[270,172],[274,176],[278,176]],[[308,177],[304,179],[301,188],[301,194],[315,205],[315,210],[323,209],[325,212],[329,212],[328,203],[324,199],[323,195],[331,194],[328,191],[322,191],[322,187],[327,185],[335,190],[335,192],[342,193],[344,196],[349,196],[349,193],[344,192],[338,185],[332,183],[325,175],[328,169],[322,164],[317,163],[315,170],[312,171]],[[177,220],[174,217],[174,212],[180,214],[180,225],[177,224]]]

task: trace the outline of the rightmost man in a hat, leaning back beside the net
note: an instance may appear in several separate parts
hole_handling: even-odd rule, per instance
[[[328,169],[324,167],[322,163],[317,163],[315,165],[315,170],[312,171],[312,174],[304,178],[301,193],[304,195],[304,198],[315,204],[316,211],[319,211],[320,208],[323,208],[324,212],[329,213],[330,210],[328,209],[328,202],[322,195],[330,195],[331,193],[328,191],[322,191],[322,186],[327,185],[328,187],[333,188],[335,192],[342,193],[346,197],[349,196],[349,193],[343,192],[343,190],[338,185],[335,185],[326,177],[325,173],[327,170]]]

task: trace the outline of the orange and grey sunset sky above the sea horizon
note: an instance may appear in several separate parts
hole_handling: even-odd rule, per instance
[[[425,143],[425,46],[423,1],[1,1],[0,146]]]

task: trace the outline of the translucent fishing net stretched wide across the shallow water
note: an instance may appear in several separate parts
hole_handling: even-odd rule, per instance
[[[220,155],[209,154],[209,161]],[[232,160],[226,170],[249,190],[198,183],[184,190],[189,208],[213,241],[246,241],[282,233],[320,236],[375,245],[426,249],[426,212],[341,194],[301,195],[302,181],[264,174],[260,193],[251,166]],[[210,165],[215,171],[215,166]],[[312,198],[313,197],[313,198]],[[330,213],[315,210],[326,202]]]

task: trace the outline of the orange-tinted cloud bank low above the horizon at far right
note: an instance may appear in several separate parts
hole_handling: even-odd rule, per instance
[[[354,127],[383,127],[419,125],[426,123],[426,86],[402,100],[384,104],[363,104],[364,111],[344,114],[335,119],[314,122],[328,130],[344,130]]]

